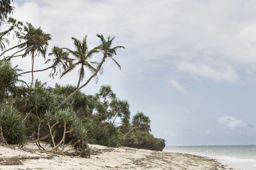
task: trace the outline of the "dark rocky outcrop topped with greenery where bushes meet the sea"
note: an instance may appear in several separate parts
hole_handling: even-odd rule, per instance
[[[145,150],[159,150],[163,151],[165,142],[164,139],[160,138],[140,138],[140,136],[127,136],[123,141],[123,146],[132,148],[140,148]]]

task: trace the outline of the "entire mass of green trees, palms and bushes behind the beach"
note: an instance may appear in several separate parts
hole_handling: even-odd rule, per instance
[[[137,136],[136,143],[153,138],[150,120],[143,113],[137,113],[130,122],[129,103],[118,99],[110,86],[102,86],[99,93],[86,95],[80,90],[92,78],[97,77],[107,59],[124,46],[112,46],[114,38],[97,34],[100,44],[88,50],[86,36],[82,41],[72,38],[74,50],[53,46],[47,53],[51,35],[30,23],[25,25],[8,18],[13,7],[10,1],[0,2],[0,22],[8,29],[0,32],[0,131],[1,141],[8,144],[36,143],[42,152],[88,157],[87,143],[106,146],[120,146],[125,138]],[[4,9],[4,10],[2,10]],[[8,36],[18,39],[17,45],[9,46]],[[6,48],[9,47],[9,48]],[[92,61],[95,53],[102,53],[102,59]],[[48,54],[48,55],[47,55]],[[72,55],[70,57],[69,55]],[[19,66],[12,66],[17,57],[31,57],[31,71],[18,73]],[[53,57],[45,61],[51,66],[35,69],[35,57]],[[49,77],[60,78],[79,68],[77,85],[47,87],[47,83],[34,81],[34,74],[51,69]],[[31,73],[31,82],[22,80],[22,74]],[[90,74],[82,84],[84,75]],[[22,84],[17,82],[22,81]],[[46,148],[45,146],[51,146]],[[64,151],[63,148],[70,147]],[[61,147],[61,150],[60,150]]]

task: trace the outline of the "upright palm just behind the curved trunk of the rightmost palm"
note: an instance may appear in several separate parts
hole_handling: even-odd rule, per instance
[[[70,65],[65,71],[63,71],[60,78],[62,76],[64,76],[65,74],[69,73],[70,71],[72,71],[75,67],[80,66],[79,79],[77,82],[76,89],[79,88],[81,81],[83,81],[84,71],[86,68],[92,72],[96,71],[96,69],[93,67],[93,65],[97,65],[97,62],[93,62],[90,59],[92,59],[93,53],[100,52],[98,50],[98,47],[95,47],[92,50],[88,50],[86,39],[87,39],[87,36],[84,36],[83,41],[79,41],[79,39],[72,38],[72,40],[74,41],[74,46],[75,46],[76,50],[70,50],[68,48],[64,48],[64,49],[68,50],[69,53],[72,53],[72,55],[74,55],[74,57],[76,57],[76,59],[74,59],[74,60],[76,60],[76,62],[74,64]],[[74,104],[75,98],[76,98],[76,94],[72,101],[72,106]]]

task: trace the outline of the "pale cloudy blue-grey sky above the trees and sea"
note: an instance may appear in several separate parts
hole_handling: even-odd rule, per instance
[[[96,34],[115,36],[113,45],[125,46],[115,56],[122,70],[107,60],[99,81],[82,91],[95,94],[111,85],[129,101],[132,115],[150,117],[152,134],[166,145],[256,144],[256,1],[14,2],[15,18],[52,35],[49,51],[54,45],[74,49],[71,37],[87,35],[92,49],[100,43]],[[29,57],[15,64],[31,69]],[[36,68],[47,66],[35,59]],[[51,87],[76,85],[77,71],[61,79],[49,72],[35,76]]]

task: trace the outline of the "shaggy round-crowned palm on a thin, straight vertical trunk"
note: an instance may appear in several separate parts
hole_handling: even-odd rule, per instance
[[[34,61],[35,57],[42,55],[45,59],[48,41],[51,40],[51,34],[46,34],[40,27],[37,29],[30,23],[24,26],[24,32],[19,35],[20,41],[25,41],[19,48],[25,49],[22,57],[31,55],[32,67],[31,67],[31,84],[34,81]]]

